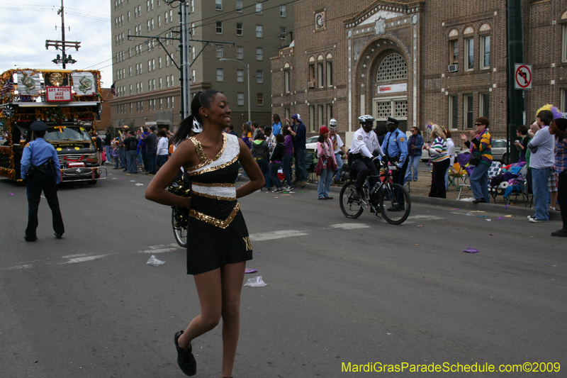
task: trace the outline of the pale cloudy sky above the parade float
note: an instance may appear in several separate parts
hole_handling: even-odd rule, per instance
[[[79,41],[79,51],[67,50],[77,63],[67,70],[99,70],[102,86],[112,84],[110,0],[64,0],[65,40]],[[61,51],[45,40],[61,40],[61,0],[0,0],[0,72],[13,68],[55,68]],[[57,30],[55,27],[57,26]],[[69,30],[69,27],[71,30]]]

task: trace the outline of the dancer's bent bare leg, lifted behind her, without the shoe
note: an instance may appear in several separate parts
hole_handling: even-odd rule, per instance
[[[191,340],[218,325],[223,308],[220,268],[196,274],[193,278],[195,279],[199,303],[201,304],[201,313],[193,318],[185,332],[177,340],[179,346],[184,349],[189,348]]]

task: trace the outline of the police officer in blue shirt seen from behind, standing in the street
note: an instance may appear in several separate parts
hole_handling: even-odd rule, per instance
[[[31,130],[35,140],[23,148],[21,159],[21,178],[28,179],[28,228],[23,238],[26,242],[38,240],[35,229],[38,228],[38,209],[43,191],[51,209],[55,238],[60,239],[65,228],[57,199],[57,184],[60,182],[59,157],[55,148],[43,139],[47,131],[45,123],[35,121],[31,124]]]

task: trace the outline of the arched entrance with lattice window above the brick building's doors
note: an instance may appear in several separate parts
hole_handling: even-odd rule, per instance
[[[408,128],[408,64],[395,50],[385,50],[374,60],[371,70],[372,113],[376,121],[393,117],[400,130]]]

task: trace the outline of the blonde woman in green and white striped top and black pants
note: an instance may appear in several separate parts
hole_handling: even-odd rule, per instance
[[[430,153],[430,159],[433,163],[433,174],[431,177],[430,197],[447,198],[447,189],[445,188],[445,172],[449,168],[449,155],[447,155],[447,137],[443,133],[443,129],[439,125],[433,125],[431,128],[431,145],[425,143],[423,149]]]

